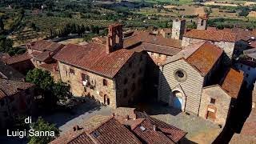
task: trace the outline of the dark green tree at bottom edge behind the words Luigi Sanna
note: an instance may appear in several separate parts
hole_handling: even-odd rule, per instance
[[[58,137],[60,130],[54,125],[44,121],[41,117],[38,118],[37,122],[31,124],[31,129],[34,131],[54,131],[54,137],[52,136],[28,136],[30,144],[45,144],[54,140]]]

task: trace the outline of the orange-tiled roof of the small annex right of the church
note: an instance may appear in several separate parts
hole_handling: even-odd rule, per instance
[[[238,98],[239,91],[243,82],[243,74],[232,68],[226,74],[224,81],[222,82],[222,89],[226,90],[230,97]]]

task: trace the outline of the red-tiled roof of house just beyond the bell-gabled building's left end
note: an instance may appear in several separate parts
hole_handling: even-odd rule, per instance
[[[62,48],[64,45],[56,42],[50,42],[46,40],[40,40],[37,42],[32,42],[31,43],[31,48],[34,50],[48,50],[48,51],[55,51],[58,50],[59,48]]]

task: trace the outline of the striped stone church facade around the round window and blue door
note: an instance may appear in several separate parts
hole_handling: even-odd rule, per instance
[[[158,84],[158,100],[169,103],[173,106],[174,91],[181,92],[185,97],[185,110],[198,114],[202,86],[204,78],[190,64],[184,60],[170,62],[161,68]],[[183,70],[185,76],[183,81],[178,81],[175,77],[176,70]]]

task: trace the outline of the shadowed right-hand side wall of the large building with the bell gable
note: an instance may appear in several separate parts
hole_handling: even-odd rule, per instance
[[[136,53],[122,66],[122,70],[114,77],[118,107],[132,105],[141,98],[144,88],[143,78],[146,72],[145,69],[146,54]]]

